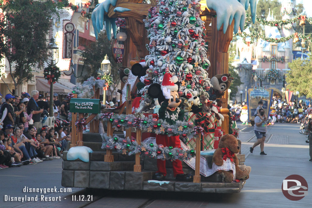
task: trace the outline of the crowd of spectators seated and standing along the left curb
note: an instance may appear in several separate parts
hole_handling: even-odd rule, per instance
[[[61,158],[71,140],[68,98],[53,96],[53,126],[43,125],[50,97],[37,90],[21,96],[0,94],[0,170]]]

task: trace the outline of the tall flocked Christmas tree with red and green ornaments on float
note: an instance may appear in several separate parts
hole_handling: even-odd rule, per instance
[[[167,72],[178,77],[180,97],[202,94],[209,97],[206,91],[211,87],[210,62],[200,12],[199,0],[163,0],[149,9],[144,20],[150,40],[149,55],[145,57],[149,66],[145,83],[161,84]]]

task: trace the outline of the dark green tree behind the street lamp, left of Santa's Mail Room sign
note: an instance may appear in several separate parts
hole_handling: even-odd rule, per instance
[[[107,39],[106,32],[104,31],[99,34],[98,40],[96,42],[91,42],[88,46],[85,46],[85,50],[81,55],[84,59],[84,65],[82,66],[80,76],[84,70],[87,70],[88,73],[87,75],[82,76],[83,81],[90,76],[99,76],[101,62],[107,54],[110,60],[110,74],[112,77],[112,85],[108,90],[110,90],[110,93],[112,94],[116,91],[116,88],[120,83],[118,68],[121,66],[121,64],[118,64],[114,61],[111,55],[111,44],[112,41]]]

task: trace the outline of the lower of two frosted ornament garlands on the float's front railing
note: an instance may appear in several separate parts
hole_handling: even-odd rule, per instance
[[[111,137],[107,136],[106,133],[101,134],[101,137],[103,140],[102,149],[115,149],[117,152],[122,152],[122,154],[134,155],[140,153],[144,157],[171,161],[183,161],[195,157],[194,149],[184,151],[182,148],[164,147],[162,144],[157,145],[156,143],[142,143],[139,145],[135,139],[120,138],[117,135]]]

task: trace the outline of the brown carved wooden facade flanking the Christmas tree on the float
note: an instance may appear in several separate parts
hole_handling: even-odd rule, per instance
[[[151,4],[141,3],[140,0],[119,0],[116,7],[126,7],[131,9],[128,12],[113,12],[115,7],[110,6],[108,12],[109,17],[124,17],[126,20],[127,39],[125,41],[125,51],[122,64],[130,67],[129,61],[133,58],[139,57],[144,59],[148,55],[146,44],[149,44],[147,39],[147,30],[144,27],[143,19],[146,18],[149,8],[156,5],[156,1],[152,0]],[[211,66],[209,67],[209,78],[217,74],[228,73],[229,54],[228,48],[233,38],[234,20],[227,28],[227,32],[223,33],[223,26],[217,30],[217,17],[216,12],[209,10],[205,5],[206,1],[203,0],[201,9],[201,18],[205,22],[206,28],[206,41],[208,42],[207,57],[210,60]],[[211,25],[211,26],[210,26]],[[222,97],[221,113],[224,116],[222,122],[222,129],[228,133],[229,117],[227,113],[227,98],[228,94],[225,92]]]

